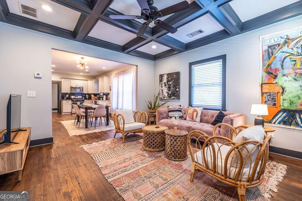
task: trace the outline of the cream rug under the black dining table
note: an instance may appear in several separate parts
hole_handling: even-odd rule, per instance
[[[96,127],[94,129],[94,121],[92,121],[92,127],[90,127],[90,124],[88,124],[88,128],[85,128],[85,120],[84,122],[81,121],[80,128],[76,126],[76,123],[74,124],[75,120],[68,120],[68,121],[59,121],[63,124],[63,126],[66,128],[69,136],[75,136],[75,135],[84,135],[87,133],[95,133],[100,131],[106,131],[106,130],[112,130],[115,129],[113,121],[109,120],[111,124],[109,126],[105,126],[104,121],[102,121],[103,125],[99,126],[99,120],[96,124]]]

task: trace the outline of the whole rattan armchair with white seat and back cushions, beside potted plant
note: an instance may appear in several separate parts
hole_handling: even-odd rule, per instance
[[[142,132],[142,128],[148,123],[147,113],[141,111],[115,110],[112,117],[115,126],[113,138],[115,138],[116,133],[121,133],[123,143],[125,143],[125,136],[127,134]]]

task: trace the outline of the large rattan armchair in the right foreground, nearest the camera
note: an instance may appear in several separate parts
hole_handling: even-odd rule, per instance
[[[191,131],[188,134],[192,159],[190,181],[193,181],[195,172],[202,171],[225,184],[237,187],[239,200],[244,201],[246,188],[256,187],[263,182],[271,138],[265,134],[262,141],[234,142],[234,138],[244,129],[245,126],[232,127],[221,123],[214,127],[213,137],[199,130]],[[225,136],[215,133],[225,133]],[[196,141],[192,143],[191,140]],[[204,141],[204,144],[199,140]]]

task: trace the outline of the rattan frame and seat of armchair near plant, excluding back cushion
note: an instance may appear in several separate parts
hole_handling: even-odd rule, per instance
[[[115,138],[116,133],[122,134],[123,143],[125,143],[125,136],[129,133],[140,133],[142,128],[148,123],[148,114],[142,111],[133,111],[133,118],[135,123],[125,124],[125,119],[122,114],[112,114],[113,122],[115,126]],[[139,124],[138,124],[139,123]],[[132,129],[134,128],[134,129]]]

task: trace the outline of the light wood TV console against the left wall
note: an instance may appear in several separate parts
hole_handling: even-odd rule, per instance
[[[22,170],[31,142],[31,127],[21,129],[26,129],[26,131],[19,131],[12,140],[19,144],[4,143],[0,145],[0,175],[18,171],[18,181],[22,180]],[[0,133],[0,139],[3,139],[4,132]]]

